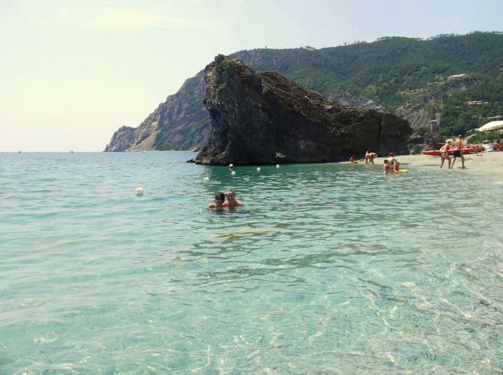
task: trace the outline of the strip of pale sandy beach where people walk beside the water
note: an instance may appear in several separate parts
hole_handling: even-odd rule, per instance
[[[465,156],[465,169],[461,169],[461,160],[456,159],[453,171],[460,171],[469,174],[487,174],[491,176],[503,177],[503,152],[482,152],[477,154],[469,154]],[[451,157],[452,158],[452,157]],[[384,157],[374,159],[376,165],[384,165]],[[401,169],[409,169],[412,166],[440,168],[439,156],[428,155],[396,155],[396,159],[400,162]],[[349,164],[349,161],[344,163]],[[365,164],[365,159],[358,159],[359,164]],[[445,161],[442,169],[448,169],[448,163]]]

